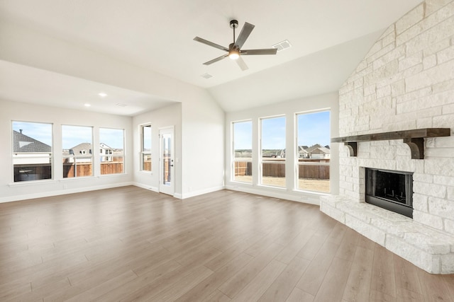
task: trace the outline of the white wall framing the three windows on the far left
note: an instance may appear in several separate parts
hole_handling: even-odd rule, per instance
[[[13,182],[12,125],[13,120],[53,124],[53,180]],[[94,155],[94,177],[62,177],[62,124],[93,127],[94,146],[99,145],[99,127],[125,129],[125,170],[121,175],[99,175],[99,156]],[[0,202],[45,197],[72,192],[98,190],[133,183],[132,118],[89,111],[66,110],[0,100]],[[95,151],[98,149],[94,149]]]

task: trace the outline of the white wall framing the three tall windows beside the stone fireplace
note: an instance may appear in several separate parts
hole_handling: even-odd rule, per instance
[[[286,149],[296,150],[297,142],[296,129],[293,127],[295,113],[309,112],[314,110],[329,109],[331,110],[331,137],[338,136],[338,94],[328,93],[324,95],[316,95],[309,98],[301,98],[297,100],[289,100],[274,105],[262,106],[260,108],[253,108],[239,112],[228,112],[226,114],[226,187],[231,190],[238,190],[243,192],[250,192],[255,194],[263,194],[271,197],[282,199],[290,199],[297,202],[306,202],[311,204],[319,204],[319,197],[322,195],[316,192],[303,192],[300,190],[293,190],[292,184],[295,182],[295,173],[293,165],[287,164],[286,166],[286,182],[287,188],[272,188],[258,185],[258,141],[259,125],[258,120],[260,117],[270,117],[274,115],[285,115],[287,120],[287,137]],[[253,184],[244,184],[240,182],[232,182],[229,171],[231,170],[232,160],[232,137],[231,137],[231,123],[240,120],[253,121]],[[287,163],[294,162],[294,153],[287,152]],[[331,194],[338,194],[338,150],[331,148]],[[255,167],[255,168],[254,168]]]

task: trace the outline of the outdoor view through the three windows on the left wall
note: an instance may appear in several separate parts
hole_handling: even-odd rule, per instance
[[[14,182],[52,179],[52,124],[13,121]],[[124,130],[99,128],[99,149],[92,127],[62,126],[62,177],[92,176],[94,155],[101,175],[124,173]],[[99,151],[98,151],[99,150]],[[99,152],[99,153],[98,153]]]

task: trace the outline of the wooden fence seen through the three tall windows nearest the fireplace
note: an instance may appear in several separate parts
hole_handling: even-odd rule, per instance
[[[329,159],[300,159],[299,163],[298,178],[317,180],[330,178]],[[250,161],[236,161],[234,168],[235,176],[252,175],[252,162]],[[262,173],[263,176],[283,178],[285,177],[285,163],[262,163]]]

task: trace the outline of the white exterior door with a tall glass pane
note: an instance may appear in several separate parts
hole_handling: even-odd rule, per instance
[[[160,182],[159,192],[172,195],[175,193],[175,167],[173,127],[159,130],[160,139]]]

